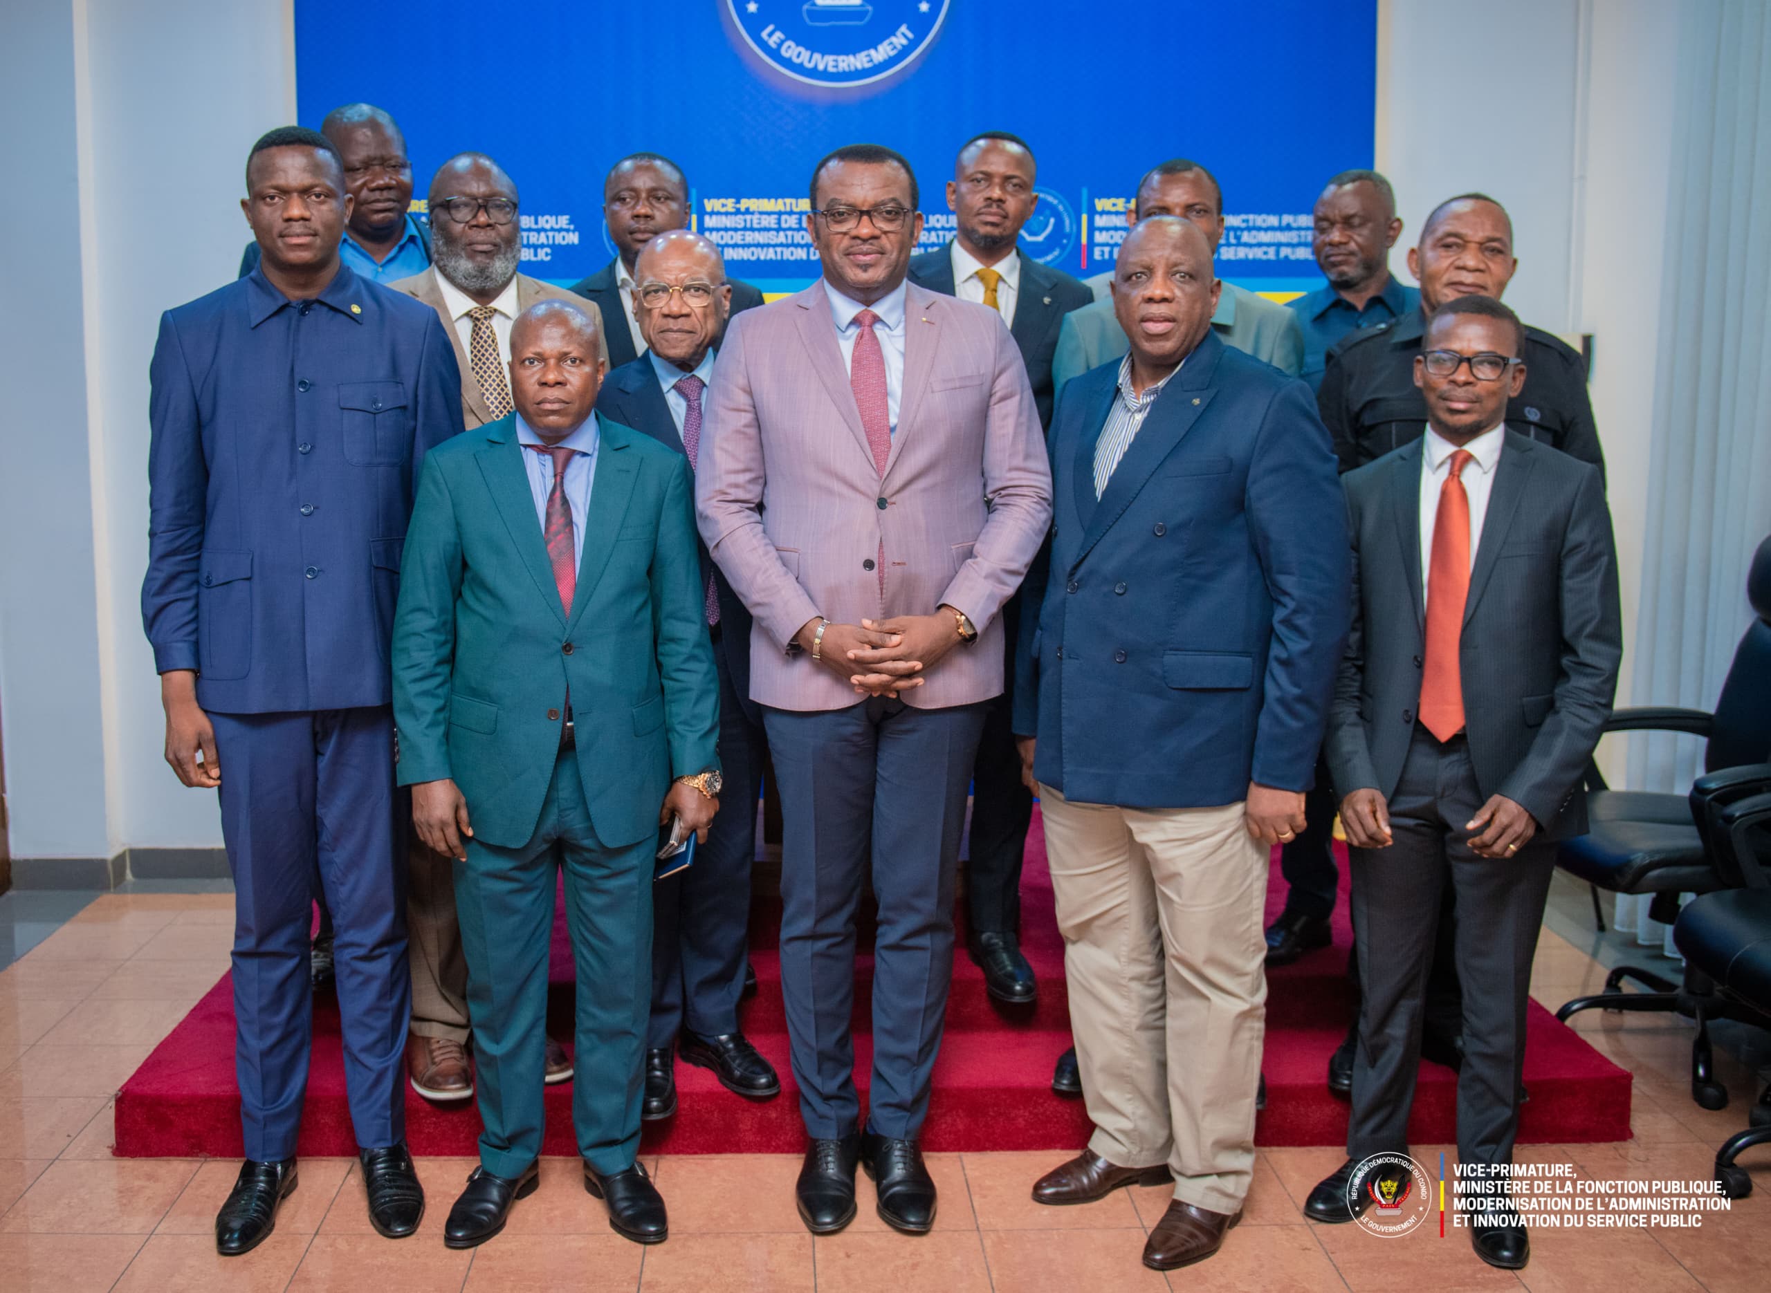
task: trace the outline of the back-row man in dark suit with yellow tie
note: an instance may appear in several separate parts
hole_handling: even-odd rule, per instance
[[[910,260],[910,282],[988,305],[1002,315],[1027,365],[1045,430],[1052,425],[1052,356],[1059,326],[1066,314],[1094,296],[1086,283],[1040,264],[1020,246],[1020,228],[1038,200],[1027,142],[1006,131],[974,135],[960,147],[947,181],[955,236],[939,252]],[[967,951],[983,967],[990,995],[1008,1004],[1031,1003],[1038,992],[1032,967],[1020,955],[1020,857],[1032,820],[1032,792],[1022,785],[1020,755],[1009,732],[1018,623],[1017,593],[1002,613],[1009,682],[990,705],[972,767],[972,834],[965,863]]]

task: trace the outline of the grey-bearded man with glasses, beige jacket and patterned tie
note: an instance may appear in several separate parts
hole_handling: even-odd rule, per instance
[[[560,299],[592,317],[597,306],[567,290],[517,273],[522,230],[517,186],[483,152],[460,152],[430,181],[430,267],[391,283],[443,317],[460,368],[460,411],[468,429],[512,411],[510,328],[537,301]],[[602,347],[607,365],[607,345]],[[468,962],[455,919],[455,879],[448,857],[420,840],[409,848],[411,882],[406,923],[411,937],[413,1026],[406,1070],[429,1100],[473,1098],[468,1063]],[[547,1080],[572,1077],[565,1047],[547,1038]]]

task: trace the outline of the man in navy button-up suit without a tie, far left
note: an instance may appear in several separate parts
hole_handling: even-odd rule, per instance
[[[296,1188],[315,870],[370,1222],[400,1238],[423,1215],[400,1080],[411,987],[388,645],[418,462],[462,427],[436,312],[338,259],[351,197],[324,135],[260,138],[241,207],[259,267],[159,321],[142,585],[166,762],[220,790],[237,894],[246,1164],[216,1217],[223,1256],[269,1236]]]

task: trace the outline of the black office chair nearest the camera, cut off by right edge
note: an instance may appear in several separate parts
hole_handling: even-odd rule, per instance
[[[1679,912],[1672,939],[1686,965],[1707,976],[1727,1013],[1771,1029],[1771,794],[1743,799],[1716,813],[1711,856],[1730,887],[1693,898]],[[1771,1082],[1759,1095],[1746,1130],[1716,1151],[1716,1183],[1744,1199],[1753,1181],[1736,1165],[1741,1150],[1771,1144]]]

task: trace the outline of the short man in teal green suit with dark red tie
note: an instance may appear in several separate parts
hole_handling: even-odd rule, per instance
[[[499,379],[496,351],[475,354]],[[577,964],[584,1188],[666,1235],[636,1162],[662,822],[719,808],[719,682],[685,459],[592,413],[597,324],[542,301],[510,331],[515,413],[425,461],[393,625],[400,785],[455,859],[485,1132],[445,1227],[473,1247],[537,1185],[556,871]]]

